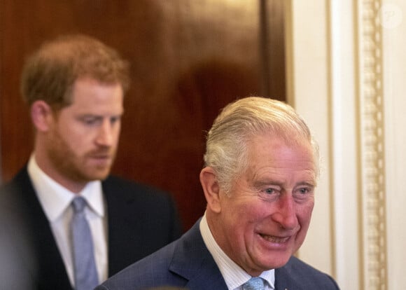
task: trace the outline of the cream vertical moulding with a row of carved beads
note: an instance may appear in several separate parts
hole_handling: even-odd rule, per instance
[[[379,0],[359,1],[360,176],[364,289],[388,289],[382,34]]]

